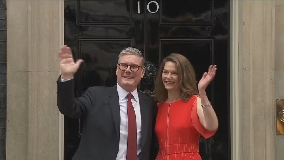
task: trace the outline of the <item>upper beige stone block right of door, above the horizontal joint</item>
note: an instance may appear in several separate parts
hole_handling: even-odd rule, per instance
[[[274,5],[272,1],[241,1],[243,68],[274,69]],[[272,32],[273,31],[273,32]]]

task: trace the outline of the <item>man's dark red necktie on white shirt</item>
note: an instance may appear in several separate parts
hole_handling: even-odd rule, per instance
[[[136,143],[136,116],[131,102],[132,94],[127,95],[127,154],[126,160],[137,160],[137,143]]]

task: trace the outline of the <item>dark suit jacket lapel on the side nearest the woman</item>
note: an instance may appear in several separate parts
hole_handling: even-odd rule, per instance
[[[149,129],[149,104],[147,103],[147,100],[142,95],[142,93],[138,92],[139,96],[139,104],[140,104],[140,111],[141,111],[141,146],[145,144],[145,141],[147,139],[147,133]]]

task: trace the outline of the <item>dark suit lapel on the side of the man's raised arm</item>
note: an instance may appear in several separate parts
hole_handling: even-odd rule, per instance
[[[113,115],[113,121],[115,124],[115,130],[117,139],[119,142],[119,133],[120,133],[120,109],[119,109],[119,98],[118,98],[118,92],[116,85],[111,88],[110,92],[110,107],[111,107],[111,113]]]

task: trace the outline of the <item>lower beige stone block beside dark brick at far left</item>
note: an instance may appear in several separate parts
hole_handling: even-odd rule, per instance
[[[27,160],[28,74],[7,72],[7,160]]]

